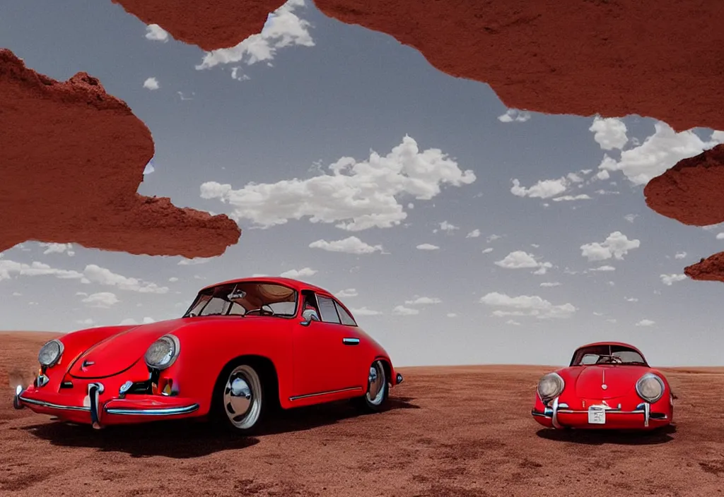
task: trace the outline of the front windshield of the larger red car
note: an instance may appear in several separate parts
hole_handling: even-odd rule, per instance
[[[201,290],[184,317],[281,316],[297,312],[297,292],[278,283],[242,282]]]

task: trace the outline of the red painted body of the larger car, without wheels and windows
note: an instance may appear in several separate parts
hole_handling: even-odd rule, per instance
[[[194,306],[201,306],[205,290],[213,292],[222,285],[253,289],[256,294],[251,296],[232,291],[235,297],[242,295],[249,301],[261,295],[261,289],[288,291],[288,298],[293,295],[295,301],[285,302],[288,315],[264,316],[260,311],[260,315],[189,316]],[[310,295],[314,295],[315,302],[328,305],[332,299],[334,306],[352,319],[351,323],[348,320],[348,324],[341,324],[342,319],[340,324],[324,322],[327,308],[321,313],[323,319],[303,324],[302,302]],[[273,295],[270,299],[274,300]],[[228,312],[234,305],[230,303]],[[338,312],[335,316],[343,314]],[[155,371],[147,365],[144,354],[153,342],[169,334],[177,339],[180,351],[171,366]],[[18,388],[15,407],[28,407],[64,421],[94,424],[96,428],[205,416],[219,375],[239,358],[261,358],[273,365],[283,408],[363,396],[375,360],[382,361],[390,386],[403,381],[384,348],[356,325],[350,311],[334,295],[281,277],[210,285],[200,290],[180,319],[83,329],[58,340],[62,343],[59,361],[41,368],[27,389]],[[122,393],[127,382],[132,385]],[[90,394],[93,385],[98,392],[97,405]]]

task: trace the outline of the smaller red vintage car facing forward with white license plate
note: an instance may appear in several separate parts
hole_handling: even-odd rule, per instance
[[[672,422],[673,399],[665,376],[640,350],[598,342],[540,379],[531,414],[547,428],[652,430]]]

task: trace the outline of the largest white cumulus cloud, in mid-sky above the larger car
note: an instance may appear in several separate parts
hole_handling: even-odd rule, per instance
[[[460,170],[442,150],[421,152],[408,136],[384,157],[376,152],[361,162],[342,157],[328,168],[332,174],[248,183],[238,190],[208,181],[201,185],[201,197],[228,202],[233,219],[249,219],[261,228],[310,217],[311,222],[337,222],[337,228],[359,231],[390,228],[405,220],[407,212],[398,197],[430,200],[444,184],[475,181],[473,171]]]

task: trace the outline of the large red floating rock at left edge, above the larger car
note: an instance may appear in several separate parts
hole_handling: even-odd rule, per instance
[[[67,82],[0,49],[0,251],[23,241],[209,257],[241,234],[225,215],[136,193],[151,132],[85,72]]]

